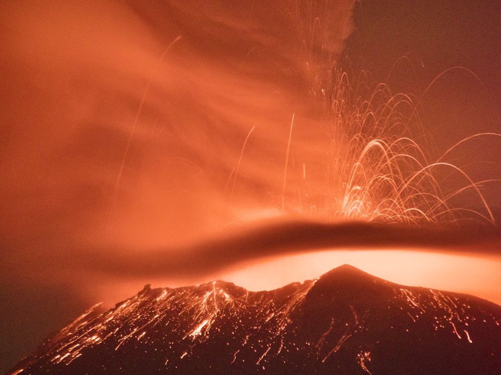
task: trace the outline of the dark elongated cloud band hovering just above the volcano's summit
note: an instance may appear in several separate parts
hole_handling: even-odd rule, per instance
[[[177,249],[99,249],[63,261],[74,269],[116,276],[204,276],[241,262],[325,249],[419,249],[499,254],[497,227],[457,229],[347,222],[287,222],[260,226]]]

